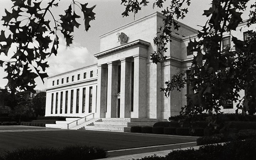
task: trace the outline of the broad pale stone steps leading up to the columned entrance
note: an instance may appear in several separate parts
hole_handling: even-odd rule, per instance
[[[153,126],[159,121],[167,121],[167,119],[150,119],[150,118],[100,118],[93,124],[81,124],[76,126],[77,129],[85,130],[102,130],[113,132],[130,132],[132,126]],[[74,129],[75,129],[74,128]],[[73,128],[72,128],[73,129]]]

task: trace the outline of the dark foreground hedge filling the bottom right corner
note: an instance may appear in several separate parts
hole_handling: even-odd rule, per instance
[[[250,160],[255,159],[256,139],[236,140],[224,145],[204,145],[198,150],[173,150],[165,157],[147,156],[137,160]]]

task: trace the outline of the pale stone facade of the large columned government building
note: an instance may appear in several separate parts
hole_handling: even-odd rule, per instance
[[[178,22],[172,32],[165,62],[153,64],[151,53],[156,50],[153,38],[162,25],[161,13],[156,12],[100,36],[100,52],[94,54],[97,64],[67,71],[48,78],[46,116],[84,117],[95,113],[102,118],[159,118],[179,114],[187,104],[185,87],[173,91],[169,98],[160,91],[165,81],[178,71],[189,70],[193,53],[188,52],[190,39],[197,30]],[[250,28],[240,24],[241,39]],[[231,35],[225,34],[228,46]],[[241,97],[243,93],[241,92]],[[235,102],[223,111],[233,112]]]

